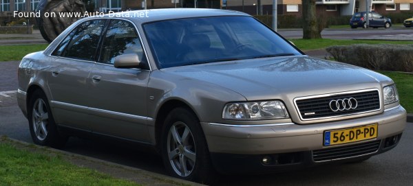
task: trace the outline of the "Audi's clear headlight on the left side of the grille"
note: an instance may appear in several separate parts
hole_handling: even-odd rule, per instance
[[[224,106],[224,119],[282,119],[288,118],[287,109],[280,101],[240,102]]]

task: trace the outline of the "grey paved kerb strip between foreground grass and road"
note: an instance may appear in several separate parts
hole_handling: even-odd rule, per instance
[[[87,167],[91,170],[109,174],[115,178],[122,178],[127,181],[133,181],[135,183],[138,183],[139,185],[201,185],[198,183],[184,181],[162,174],[148,172],[146,170],[140,170],[134,167],[128,167],[100,159],[94,159],[88,156],[81,156],[79,154],[56,150],[54,148],[36,146],[31,143],[10,139],[8,137],[0,136],[0,143],[9,143],[18,149],[27,150],[29,152],[46,154],[49,156],[61,156],[66,161],[69,161],[70,163],[73,163],[74,165],[77,165],[79,167]]]

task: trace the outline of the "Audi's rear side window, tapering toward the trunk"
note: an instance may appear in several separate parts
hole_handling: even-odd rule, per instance
[[[85,21],[78,25],[53,51],[53,56],[95,60],[99,38],[105,27],[105,20]]]

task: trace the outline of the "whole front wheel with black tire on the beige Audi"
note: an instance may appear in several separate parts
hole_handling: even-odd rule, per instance
[[[161,153],[167,172],[188,181],[211,181],[214,170],[198,118],[187,108],[175,108],[165,119]],[[208,179],[208,180],[207,180]]]

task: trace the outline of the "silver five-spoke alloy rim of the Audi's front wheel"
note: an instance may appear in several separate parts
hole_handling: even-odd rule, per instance
[[[169,128],[167,152],[173,171],[179,176],[189,176],[196,161],[196,146],[191,129],[182,121],[177,121]]]

